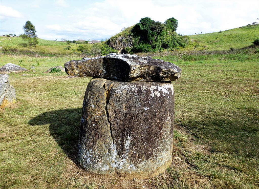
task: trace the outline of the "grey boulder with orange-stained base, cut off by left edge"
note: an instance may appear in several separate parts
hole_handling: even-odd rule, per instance
[[[0,74],[0,108],[10,106],[16,102],[15,88],[9,85],[9,76]]]

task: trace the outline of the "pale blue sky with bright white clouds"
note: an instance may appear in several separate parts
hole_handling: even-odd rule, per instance
[[[211,33],[258,22],[259,0],[0,0],[0,35],[22,34],[30,20],[42,39],[105,40],[144,17],[174,17],[182,35]]]

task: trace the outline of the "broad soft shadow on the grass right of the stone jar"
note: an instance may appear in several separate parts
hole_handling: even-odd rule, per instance
[[[209,142],[212,152],[259,158],[258,113],[257,109],[248,108],[226,117],[211,110],[209,117],[188,117],[175,123],[190,130],[194,137]]]

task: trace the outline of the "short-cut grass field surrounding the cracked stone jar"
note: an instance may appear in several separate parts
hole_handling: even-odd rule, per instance
[[[76,165],[90,78],[44,74],[80,57],[1,55],[0,66],[20,59],[36,72],[10,74],[17,103],[0,110],[0,188],[259,188],[258,61],[177,62],[173,163],[157,177],[123,181]]]

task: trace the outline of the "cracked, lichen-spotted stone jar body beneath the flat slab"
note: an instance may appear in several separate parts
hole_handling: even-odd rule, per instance
[[[104,176],[149,178],[172,161],[171,82],[92,79],[85,92],[78,163]]]

